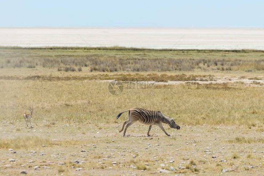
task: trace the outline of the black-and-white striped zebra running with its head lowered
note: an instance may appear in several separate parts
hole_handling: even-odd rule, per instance
[[[152,127],[152,125],[157,125],[159,126],[162,131],[165,132],[167,136],[170,136],[165,129],[162,126],[162,123],[168,124],[170,128],[176,128],[180,129],[181,127],[177,125],[174,121],[173,118],[166,117],[164,114],[162,114],[160,111],[152,111],[152,110],[147,110],[143,108],[131,108],[129,110],[123,111],[128,112],[128,120],[124,122],[123,127],[119,132],[122,132],[124,129],[124,126],[126,125],[125,131],[124,131],[124,136],[126,135],[126,129],[134,124],[136,121],[139,121],[142,124],[149,125],[149,131]],[[122,113],[119,113],[116,119],[118,119]],[[149,135],[149,131],[147,133]]]

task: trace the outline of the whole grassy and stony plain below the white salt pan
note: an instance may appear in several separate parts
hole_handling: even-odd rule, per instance
[[[2,47],[0,175],[263,175],[263,88],[264,51]]]

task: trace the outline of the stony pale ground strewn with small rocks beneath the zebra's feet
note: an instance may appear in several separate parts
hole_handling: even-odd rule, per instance
[[[118,132],[122,123],[52,124],[44,121],[38,122],[38,126],[34,124],[34,128],[25,128],[22,121],[2,122],[0,175],[264,173],[262,126],[181,124],[181,129],[175,130],[164,124],[171,137],[157,126],[151,129],[152,136],[147,137],[148,126],[136,123],[123,137]],[[50,142],[31,147],[3,147],[4,140],[18,136],[38,136]]]

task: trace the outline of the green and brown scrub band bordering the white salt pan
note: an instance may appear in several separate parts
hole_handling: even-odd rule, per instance
[[[89,67],[91,72],[263,71],[263,51],[246,51],[154,50],[122,47],[103,49],[1,47],[0,53],[3,54],[0,64],[2,68],[58,67],[58,71],[76,71],[75,67],[79,67],[78,71],[80,71],[81,67]],[[223,55],[223,53],[225,54]]]

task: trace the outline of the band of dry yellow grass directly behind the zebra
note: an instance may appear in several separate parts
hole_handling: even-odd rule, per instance
[[[154,95],[142,96],[128,94],[126,87],[121,95],[113,96],[107,88],[107,82],[96,81],[0,80],[0,115],[2,120],[24,123],[23,113],[33,106],[37,124],[45,120],[51,122],[46,124],[50,127],[57,121],[110,123],[123,110],[142,107],[174,117],[180,125],[263,124],[262,87],[180,84],[146,89]],[[123,115],[117,122],[126,118]]]

